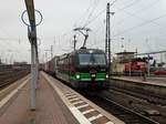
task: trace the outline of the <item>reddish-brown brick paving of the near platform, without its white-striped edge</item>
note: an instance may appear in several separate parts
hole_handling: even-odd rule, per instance
[[[37,111],[29,107],[29,81],[19,91],[18,96],[3,111],[0,124],[77,124],[77,121],[65,107],[61,99],[40,76],[40,87],[37,91]],[[64,116],[65,115],[65,116]]]

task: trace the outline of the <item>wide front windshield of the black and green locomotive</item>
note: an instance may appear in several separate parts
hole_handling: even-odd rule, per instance
[[[105,65],[106,60],[104,54],[79,54],[80,65],[97,64]]]

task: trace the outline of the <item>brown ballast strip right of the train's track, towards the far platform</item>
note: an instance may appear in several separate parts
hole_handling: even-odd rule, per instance
[[[114,90],[108,90],[102,95],[159,124],[165,124],[166,122],[166,108],[164,106],[152,104],[139,97],[134,97]]]

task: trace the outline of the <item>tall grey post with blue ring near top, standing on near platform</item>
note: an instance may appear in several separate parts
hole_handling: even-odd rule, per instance
[[[39,71],[39,56],[38,56],[38,43],[37,43],[37,25],[39,25],[42,21],[42,14],[34,10],[33,0],[24,0],[27,10],[23,11],[21,19],[25,25],[28,25],[28,38],[31,43],[31,82],[30,82],[30,108],[31,111],[35,111],[35,90],[38,82],[38,71]],[[40,13],[41,21],[35,23],[35,14],[34,12]],[[27,23],[23,19],[24,13],[28,13],[29,23]]]

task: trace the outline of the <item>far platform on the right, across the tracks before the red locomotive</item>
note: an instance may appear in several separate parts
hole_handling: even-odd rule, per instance
[[[143,81],[141,76],[113,76],[111,85],[125,87],[126,90],[138,90],[162,97],[166,95],[165,78],[147,78],[146,81]]]

